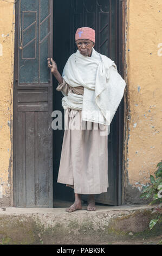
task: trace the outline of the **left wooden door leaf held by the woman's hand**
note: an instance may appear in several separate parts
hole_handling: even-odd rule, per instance
[[[16,2],[14,206],[53,207],[53,1]]]

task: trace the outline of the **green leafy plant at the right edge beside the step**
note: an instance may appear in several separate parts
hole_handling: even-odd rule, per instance
[[[150,175],[151,184],[148,186],[144,186],[144,190],[142,191],[140,197],[141,198],[152,198],[150,204],[156,204],[152,211],[156,213],[155,219],[151,220],[149,223],[150,230],[154,227],[157,222],[162,221],[162,160],[157,164],[157,170],[154,172],[154,175]]]

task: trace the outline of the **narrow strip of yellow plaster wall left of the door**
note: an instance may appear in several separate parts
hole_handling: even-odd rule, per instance
[[[0,0],[0,206],[12,204],[14,33],[14,3]]]

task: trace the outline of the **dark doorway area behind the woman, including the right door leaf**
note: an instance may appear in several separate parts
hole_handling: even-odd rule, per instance
[[[53,57],[62,74],[70,54],[76,51],[75,31],[78,27],[92,27],[96,32],[95,50],[113,59],[122,75],[122,1],[119,0],[55,0],[53,10]],[[53,110],[63,113],[61,92],[56,91],[53,79]],[[120,205],[122,202],[122,144],[124,127],[124,99],[111,124],[108,136],[108,179],[106,193],[96,195],[96,202]],[[57,183],[64,130],[53,131],[53,191],[56,202],[74,200],[74,191]],[[83,196],[86,200],[86,196]],[[58,205],[58,204],[57,204]],[[60,204],[61,205],[61,204]]]

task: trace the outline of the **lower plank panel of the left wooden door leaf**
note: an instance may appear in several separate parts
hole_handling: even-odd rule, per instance
[[[18,112],[18,206],[48,207],[48,112]]]

